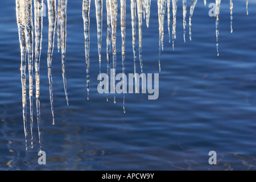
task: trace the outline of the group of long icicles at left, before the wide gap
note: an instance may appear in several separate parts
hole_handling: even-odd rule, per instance
[[[66,49],[66,26],[67,26],[67,0],[59,0],[56,7],[56,0],[47,0],[49,31],[48,31],[48,78],[49,94],[51,100],[52,122],[54,125],[53,114],[53,93],[52,93],[52,53],[54,47],[56,22],[57,22],[57,47],[61,49],[61,67],[64,82],[65,96],[67,98],[67,82],[65,76],[65,49]],[[32,0],[16,0],[16,19],[19,31],[20,55],[21,55],[21,80],[22,80],[22,105],[23,123],[27,150],[27,90],[26,90],[26,55],[28,56],[29,73],[29,98],[30,98],[30,127],[31,127],[31,148],[33,148],[33,61],[34,61],[34,26],[35,26],[35,85],[36,85],[36,113],[38,121],[38,137],[40,142],[40,56],[42,49],[42,30],[43,30],[43,0],[34,0],[34,23],[33,24]]]

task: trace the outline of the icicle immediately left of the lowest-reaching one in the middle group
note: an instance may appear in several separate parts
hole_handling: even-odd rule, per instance
[[[110,1],[110,19],[112,24],[112,56],[113,56],[113,86],[115,103],[115,72],[117,66],[117,0]]]

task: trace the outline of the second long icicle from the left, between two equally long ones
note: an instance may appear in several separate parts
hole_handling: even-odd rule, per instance
[[[30,129],[31,148],[33,148],[33,20],[32,20],[32,0],[26,1],[25,11],[25,38],[28,56],[28,76],[29,76],[29,97],[30,97]]]

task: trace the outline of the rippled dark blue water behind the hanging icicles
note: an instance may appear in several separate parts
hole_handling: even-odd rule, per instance
[[[146,21],[143,21],[143,65],[145,73],[159,73],[157,6],[156,1],[151,3],[150,27],[146,28]],[[47,164],[40,166],[36,113],[34,148],[30,147],[28,133],[28,150],[25,150],[15,2],[3,1],[0,11],[0,169],[255,170],[256,3],[249,1],[246,16],[246,1],[234,1],[234,32],[230,34],[229,1],[222,1],[220,56],[216,52],[215,19],[208,15],[210,9],[203,4],[199,1],[193,14],[192,42],[189,41],[187,14],[187,42],[184,43],[182,5],[178,2],[174,51],[168,43],[166,15],[159,98],[147,100],[148,94],[126,94],[124,114],[122,94],[117,94],[117,104],[114,104],[113,94],[106,102],[106,94],[97,92],[94,1],[90,13],[90,100],[86,100],[82,1],[69,1],[66,65],[69,106],[63,89],[61,55],[55,42],[52,62],[54,126],[48,90],[48,18],[45,17],[40,101],[42,150],[47,154]],[[122,72],[119,18],[118,15],[117,73]],[[103,19],[101,69],[106,72],[105,3]],[[126,73],[133,73],[130,20],[130,5],[127,5]],[[217,152],[217,165],[211,166],[208,152],[212,150]]]

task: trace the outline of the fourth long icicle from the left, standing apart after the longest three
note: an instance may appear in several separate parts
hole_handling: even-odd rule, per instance
[[[52,124],[55,125],[54,112],[53,112],[53,92],[52,92],[52,55],[53,55],[53,48],[54,48],[55,29],[56,29],[56,1],[47,0],[47,4],[48,4],[48,19],[49,19],[47,65],[48,65],[48,79],[49,79],[49,95],[50,95],[51,111],[52,111]]]

